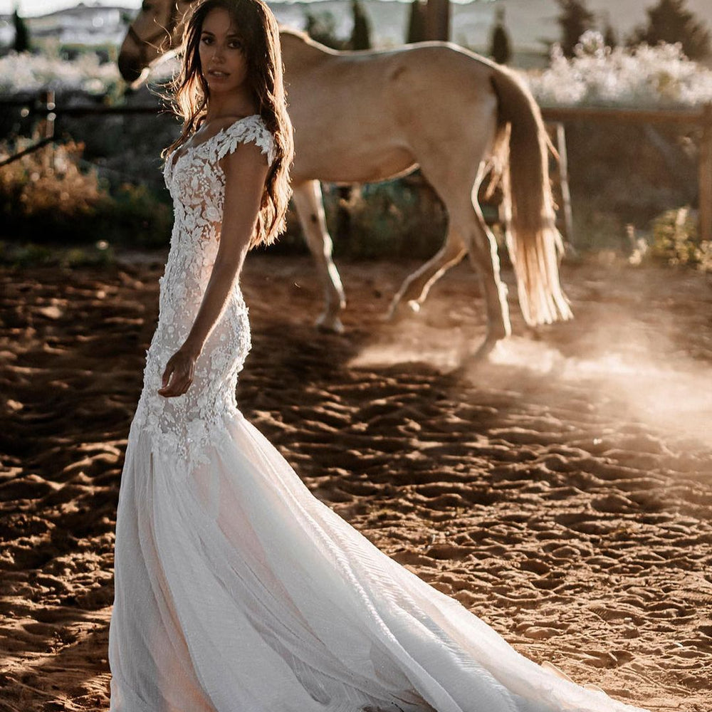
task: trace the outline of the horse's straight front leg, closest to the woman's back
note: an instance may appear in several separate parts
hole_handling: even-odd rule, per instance
[[[324,288],[324,310],[316,325],[323,330],[342,333],[344,327],[339,312],[346,306],[346,297],[341,278],[331,258],[332,241],[326,227],[321,185],[318,180],[295,184],[293,200]]]

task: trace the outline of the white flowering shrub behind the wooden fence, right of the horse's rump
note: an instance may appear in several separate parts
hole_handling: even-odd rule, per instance
[[[686,58],[679,44],[605,46],[587,31],[575,56],[554,46],[548,69],[525,75],[543,106],[689,108],[712,102],[712,70]]]

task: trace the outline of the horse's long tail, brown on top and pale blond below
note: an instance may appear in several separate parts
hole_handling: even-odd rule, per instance
[[[511,70],[497,67],[491,81],[498,99],[493,172],[501,182],[507,247],[522,313],[530,325],[569,319],[569,302],[559,283],[563,244],[555,224],[541,112]]]

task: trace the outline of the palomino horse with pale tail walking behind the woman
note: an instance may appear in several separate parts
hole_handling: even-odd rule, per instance
[[[180,44],[189,1],[144,0],[122,43],[119,67],[137,82]],[[159,42],[159,40],[162,40]],[[394,296],[418,310],[434,282],[467,253],[481,279],[488,330],[478,354],[511,334],[496,240],[477,201],[483,178],[501,181],[507,246],[530,325],[571,317],[558,276],[562,250],[540,110],[505,67],[446,42],[338,52],[282,30],[294,125],[294,204],[325,290],[321,328],[340,331],[344,290],[332,260],[320,181],[376,182],[420,167],[444,202],[444,246]]]

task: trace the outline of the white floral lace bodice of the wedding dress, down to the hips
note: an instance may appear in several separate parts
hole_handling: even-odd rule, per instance
[[[248,309],[239,283],[198,357],[194,379],[182,396],[157,393],[166,363],[192,328],[215,262],[225,200],[220,161],[243,142],[255,142],[274,160],[274,141],[259,115],[239,119],[197,145],[170,154],[164,179],[173,199],[174,224],[163,276],[159,317],[146,352],[143,391],[133,429],[148,429],[159,454],[187,464],[204,462],[207,445],[218,445],[221,422],[239,417],[237,375],[250,350]]]

